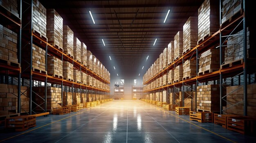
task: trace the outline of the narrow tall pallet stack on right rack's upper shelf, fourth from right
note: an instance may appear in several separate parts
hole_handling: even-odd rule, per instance
[[[183,31],[177,32],[174,36],[174,58],[173,61],[179,59],[183,52]]]

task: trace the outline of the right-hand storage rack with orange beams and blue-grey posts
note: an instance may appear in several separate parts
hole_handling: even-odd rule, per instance
[[[220,85],[220,111],[219,113],[225,112],[227,108],[223,109],[222,107],[225,106],[226,104],[229,104],[227,102],[227,95],[231,93],[225,94],[223,89],[225,88],[225,85],[231,85],[233,86],[235,83],[235,80],[238,81],[238,85],[243,84],[240,87],[243,87],[243,100],[239,101],[238,103],[235,103],[231,105],[229,108],[232,106],[235,106],[239,103],[243,103],[243,115],[247,116],[247,83],[252,83],[255,82],[255,69],[247,69],[247,41],[245,40],[247,37],[247,22],[246,22],[246,15],[247,12],[245,11],[245,0],[243,0],[243,7],[240,10],[240,12],[236,13],[233,15],[229,20],[227,20],[225,23],[222,23],[222,0],[220,0],[220,29],[216,31],[216,33],[213,33],[212,35],[209,35],[209,37],[204,38],[204,40],[199,41],[198,44],[186,52],[185,54],[182,55],[182,57],[178,58],[172,63],[168,64],[168,67],[163,68],[162,71],[148,79],[147,81],[144,81],[144,99],[150,99],[150,94],[155,94],[156,92],[162,92],[164,90],[168,91],[168,103],[170,103],[170,99],[172,99],[172,102],[177,104],[175,98],[171,98],[170,94],[172,93],[173,96],[178,96],[177,92],[182,92],[182,95],[186,94],[187,91],[194,92],[195,96],[192,97],[191,102],[195,102],[195,105],[197,105],[197,87],[199,85],[209,85],[209,84],[217,84]],[[235,32],[237,31],[243,31],[243,59],[242,62],[231,62],[228,66],[222,67],[224,64],[223,60],[223,48],[227,46],[227,38],[230,36],[234,36]],[[189,79],[183,79],[183,81],[178,81],[175,83],[170,83],[168,85],[163,85],[160,87],[155,87],[153,89],[147,89],[145,90],[145,87],[147,84],[150,84],[157,80],[157,78],[162,77],[164,74],[168,73],[169,70],[173,70],[176,66],[182,65],[185,60],[191,59],[192,57],[196,57],[196,73],[198,73],[198,65],[199,61],[198,58],[199,56],[204,52],[209,49],[213,48],[219,48],[220,50],[220,66],[221,68],[219,70],[213,71],[211,73],[206,73],[203,75],[197,75],[195,77],[189,78]],[[255,47],[252,47],[255,48]],[[241,61],[241,60],[240,60]],[[232,64],[235,63],[235,64]],[[252,65],[253,62],[250,62],[249,64]],[[249,73],[247,73],[249,71]],[[247,76],[249,74],[249,82],[247,82]],[[253,79],[254,78],[254,79]],[[242,82],[241,82],[242,81]],[[237,89],[238,90],[238,89]],[[232,91],[234,92],[234,91]],[[191,95],[188,95],[187,97],[191,97]],[[186,97],[182,96],[181,104],[182,106],[184,105],[184,99]],[[197,106],[193,107],[193,103],[191,103],[191,109],[192,110],[198,110]]]

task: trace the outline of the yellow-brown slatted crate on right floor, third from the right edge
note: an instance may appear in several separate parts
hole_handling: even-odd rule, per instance
[[[212,123],[213,122],[212,112],[189,112],[189,120],[198,121],[200,123]]]

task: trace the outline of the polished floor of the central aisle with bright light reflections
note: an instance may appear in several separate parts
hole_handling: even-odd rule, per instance
[[[7,132],[4,143],[255,143],[214,123],[189,121],[143,101],[114,100],[65,115],[38,117],[36,127]]]

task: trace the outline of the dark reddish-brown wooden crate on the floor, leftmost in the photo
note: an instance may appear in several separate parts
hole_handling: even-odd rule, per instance
[[[36,126],[36,116],[17,116],[5,119],[5,128],[15,130],[16,132],[23,132],[29,128]]]

